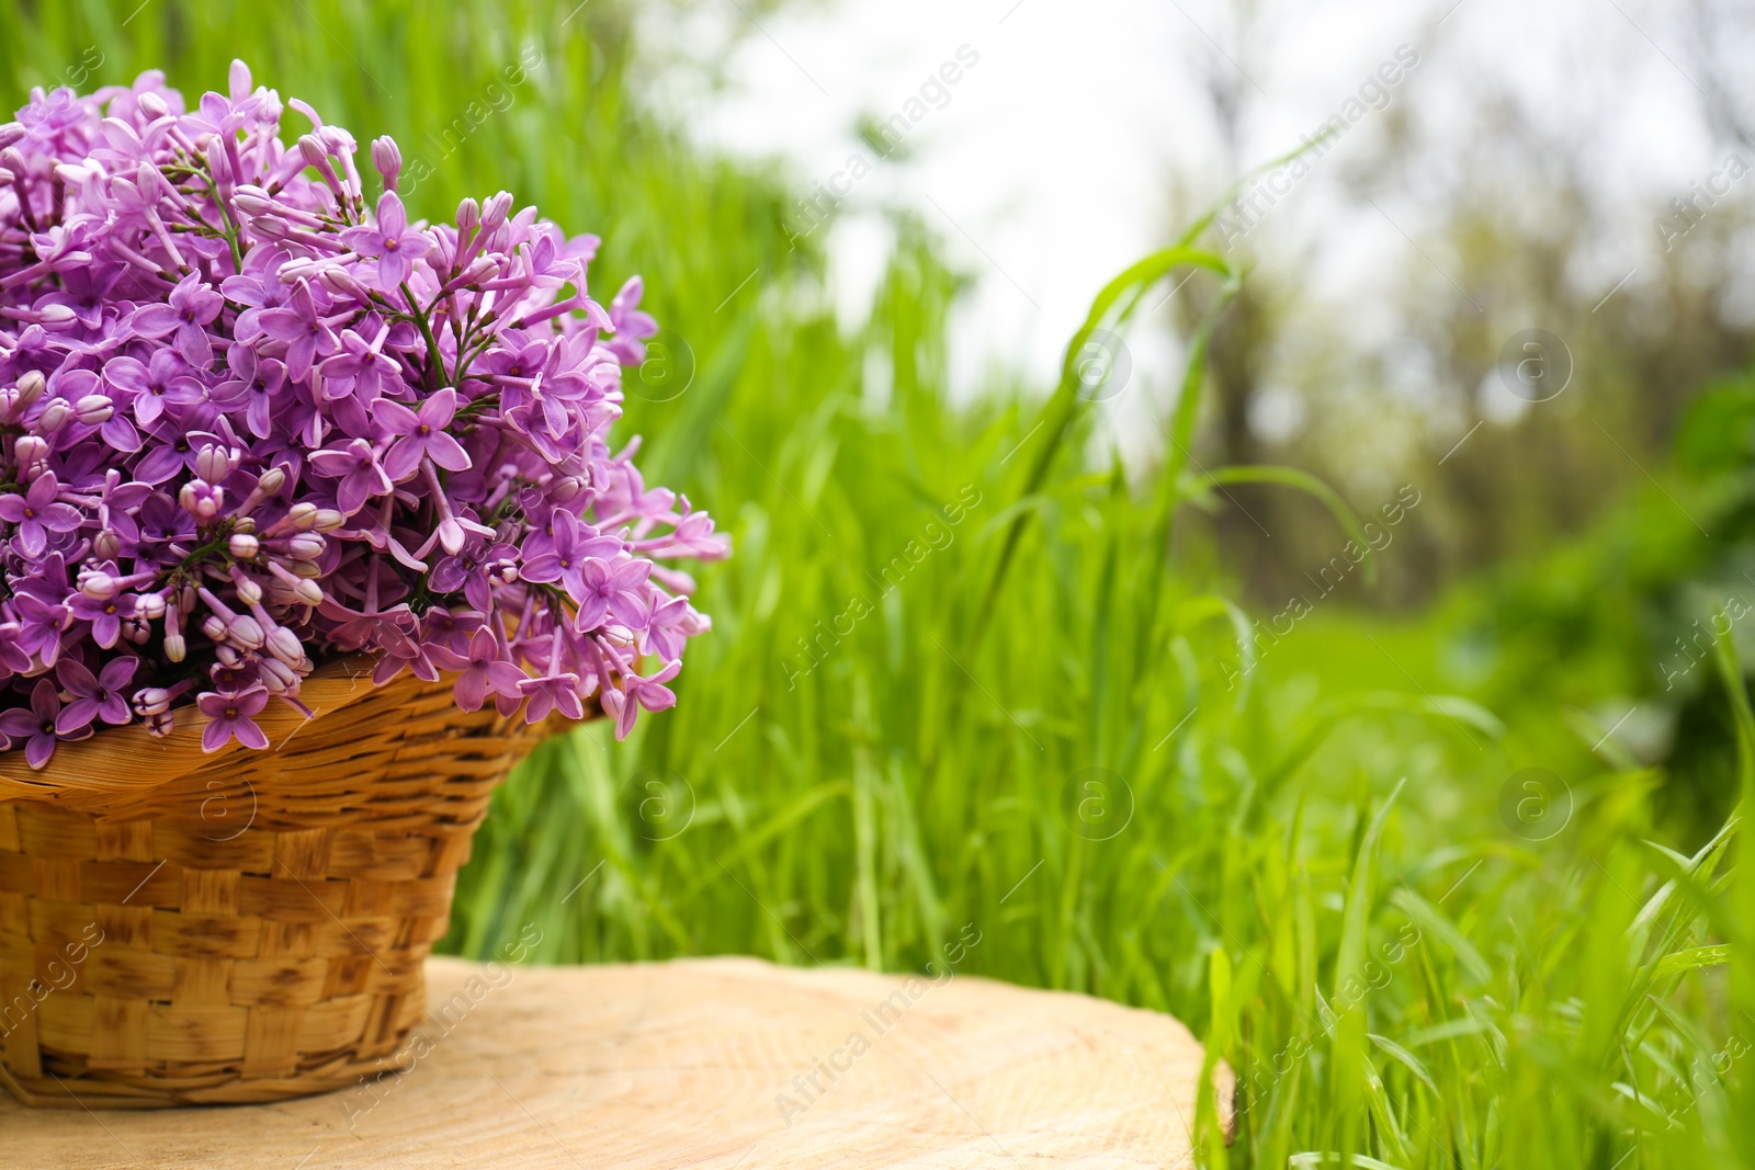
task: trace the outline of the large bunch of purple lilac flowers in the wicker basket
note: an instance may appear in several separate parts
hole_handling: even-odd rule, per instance
[[[265,747],[314,663],[455,674],[458,707],[600,707],[627,735],[709,628],[662,558],[713,521],[609,449],[656,332],[591,235],[500,193],[411,223],[355,140],[242,61],[32,93],[0,126],[0,747],[190,707]]]

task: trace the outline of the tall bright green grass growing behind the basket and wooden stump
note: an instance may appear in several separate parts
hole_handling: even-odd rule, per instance
[[[1557,731],[1544,693],[1506,724],[1443,698],[1432,623],[1318,607],[1227,688],[1248,619],[1200,524],[1223,496],[1188,474],[1199,365],[1162,419],[1169,456],[1132,482],[1083,460],[1072,375],[948,407],[962,279],[935,240],[902,219],[872,319],[837,330],[781,179],[641,112],[609,0],[570,19],[528,0],[149,0],[125,23],[135,2],[0,12],[11,96],[91,49],[88,88],[153,65],[218,88],[242,54],[360,140],[428,158],[423,214],[507,188],[600,232],[598,288],[642,272],[683,354],[648,370],[663,400],[635,396],[627,433],[646,433],[649,479],[734,533],[700,574],[716,628],[677,710],[627,744],[555,740],[500,791],[449,949],[535,924],[541,961],[904,970],[974,924],[960,970],[1176,1012],[1237,1070],[1236,1144],[1211,1102],[1197,1117],[1206,1165],[1750,1161],[1737,840],[1653,844],[1662,777]],[[541,63],[495,96],[528,49]],[[504,109],[441,156],[470,102]],[[1239,279],[1160,254],[1095,321],[1118,328],[1190,263]],[[1571,786],[1551,840],[1501,816],[1529,765]]]

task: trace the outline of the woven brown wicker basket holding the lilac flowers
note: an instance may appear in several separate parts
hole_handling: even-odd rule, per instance
[[[493,788],[542,726],[449,681],[318,670],[314,719],[0,753],[0,1081],[28,1105],[267,1102],[405,1059]]]

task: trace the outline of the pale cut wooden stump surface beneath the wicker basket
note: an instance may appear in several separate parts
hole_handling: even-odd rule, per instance
[[[28,1110],[7,1166],[1178,1166],[1176,1019],[951,975],[720,958],[428,965],[414,1067],[277,1105]],[[1232,1075],[1220,1067],[1230,1112]]]

